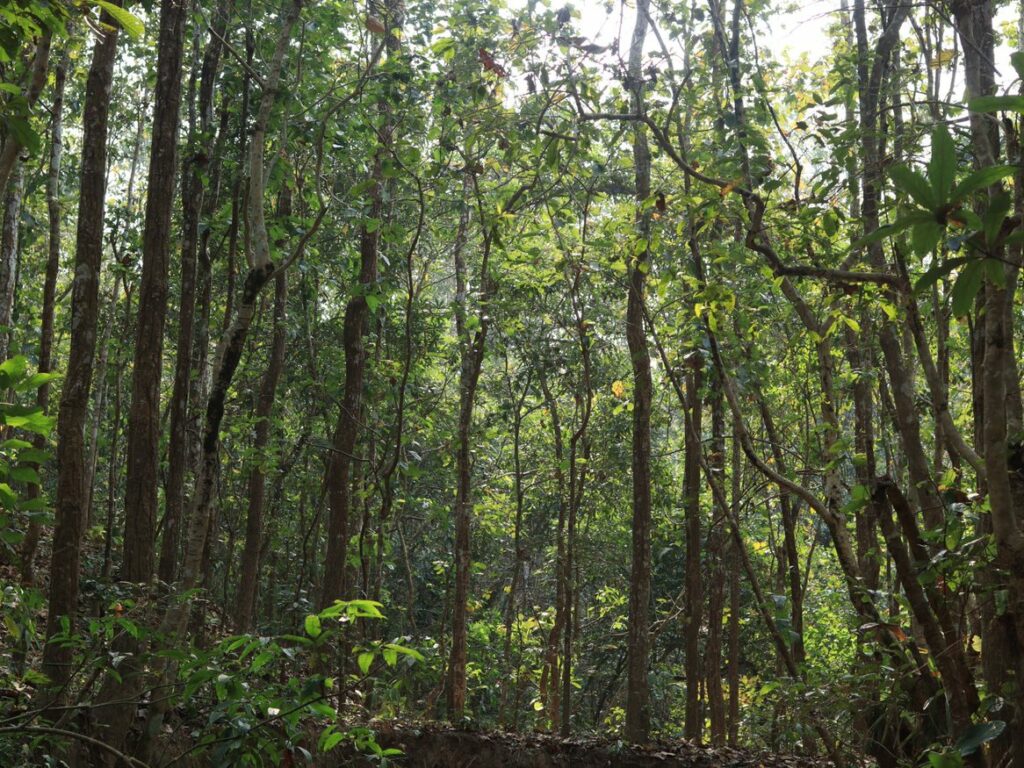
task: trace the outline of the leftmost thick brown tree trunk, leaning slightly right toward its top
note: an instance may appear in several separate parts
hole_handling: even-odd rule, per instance
[[[117,0],[115,0],[117,2]],[[54,503],[55,525],[50,561],[47,640],[74,626],[78,604],[79,562],[85,525],[86,498],[84,429],[96,347],[99,269],[102,259],[103,209],[106,190],[106,124],[111,105],[117,23],[102,13],[105,25],[93,45],[82,113],[82,160],[79,184],[75,281],[72,288],[71,351],[57,416],[58,466]],[[71,673],[69,646],[47,642],[43,666],[52,683],[63,683]]]

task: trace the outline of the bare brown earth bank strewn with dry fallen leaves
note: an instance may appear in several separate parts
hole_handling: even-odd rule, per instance
[[[821,768],[824,758],[766,755],[688,741],[631,746],[607,738],[558,738],[541,733],[467,731],[438,723],[374,723],[383,748],[398,748],[404,768]],[[323,768],[377,765],[351,752]]]

